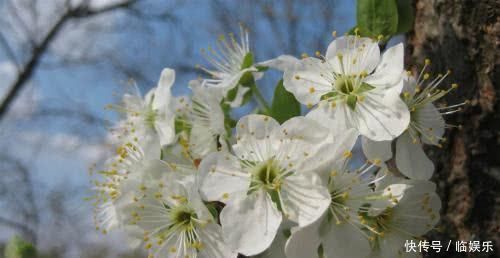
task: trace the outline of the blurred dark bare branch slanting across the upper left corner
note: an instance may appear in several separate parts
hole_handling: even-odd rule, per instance
[[[99,14],[103,14],[106,12],[110,12],[113,10],[121,9],[121,8],[126,8],[134,3],[136,3],[138,0],[129,0],[126,2],[114,4],[114,5],[109,5],[100,9],[93,9],[90,8],[86,5],[79,6],[75,9],[71,9],[66,11],[58,20],[57,22],[52,26],[52,28],[49,30],[47,35],[43,38],[43,40],[37,44],[33,48],[33,53],[31,54],[30,59],[28,62],[24,65],[23,69],[21,72],[18,74],[16,80],[12,84],[12,86],[9,88],[6,97],[0,104],[0,120],[5,116],[7,113],[9,107],[12,105],[14,99],[17,97],[21,89],[24,87],[26,82],[31,78],[33,75],[33,72],[35,71],[36,67],[38,66],[43,54],[47,51],[48,46],[54,39],[56,38],[57,34],[61,31],[63,26],[71,19],[81,19],[81,18],[87,18]]]

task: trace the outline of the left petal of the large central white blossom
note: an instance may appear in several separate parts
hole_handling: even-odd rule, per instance
[[[227,202],[235,194],[246,192],[250,176],[241,170],[231,154],[212,153],[200,164],[200,192],[207,201]]]

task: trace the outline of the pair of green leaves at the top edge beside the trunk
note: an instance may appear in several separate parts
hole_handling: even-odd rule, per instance
[[[411,0],[358,0],[357,27],[361,36],[389,40],[396,34],[411,30],[414,21]],[[355,34],[351,29],[348,34]]]

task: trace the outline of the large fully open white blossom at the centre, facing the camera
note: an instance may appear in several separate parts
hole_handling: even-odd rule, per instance
[[[268,116],[248,115],[236,130],[235,155],[214,153],[202,161],[200,191],[226,203],[220,220],[227,242],[255,255],[271,245],[283,216],[303,227],[323,214],[330,196],[312,172],[336,157],[317,148],[328,130],[304,117],[280,126]]]

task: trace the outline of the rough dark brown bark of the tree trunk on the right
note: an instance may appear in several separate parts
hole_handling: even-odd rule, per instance
[[[496,0],[417,0],[414,30],[408,34],[409,65],[432,60],[432,73],[452,70],[447,83],[460,87],[445,101],[470,100],[447,116],[441,149],[429,148],[436,164],[433,181],[442,198],[441,223],[429,240],[452,240],[449,252],[428,257],[498,257],[500,248],[500,10]],[[443,85],[444,86],[444,85]],[[493,241],[494,253],[456,253],[455,241]]]

